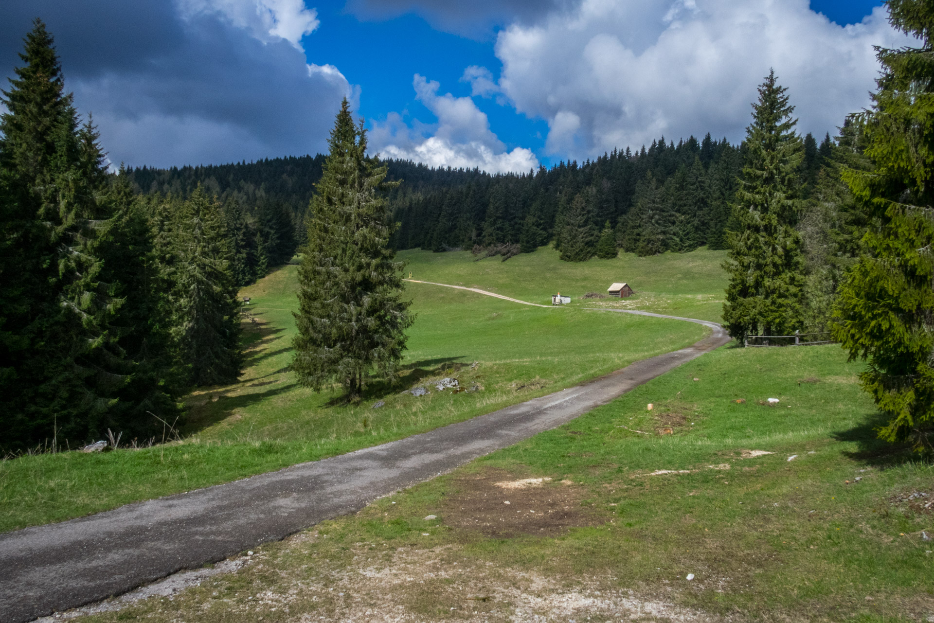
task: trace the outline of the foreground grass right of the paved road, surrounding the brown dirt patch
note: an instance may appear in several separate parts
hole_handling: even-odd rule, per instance
[[[921,531],[934,533],[934,517],[905,498],[932,499],[934,473],[874,440],[859,369],[839,347],[721,348],[558,430],[265,545],[239,573],[120,616],[335,620],[372,602],[401,618],[499,621],[586,594],[573,616],[606,620],[596,604],[622,594],[732,621],[924,620],[934,614],[934,544]],[[769,397],[781,402],[759,404]],[[673,434],[656,432],[679,415]],[[773,454],[743,459],[752,449]],[[648,475],[658,469],[688,473]],[[578,483],[598,521],[558,538],[452,528],[446,512],[458,509],[446,500],[488,470]]]

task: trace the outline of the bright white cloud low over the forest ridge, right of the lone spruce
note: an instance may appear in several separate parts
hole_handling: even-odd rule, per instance
[[[398,113],[373,122],[370,144],[384,158],[400,158],[434,167],[480,168],[489,173],[527,173],[538,167],[531,149],[506,151],[489,129],[487,114],[470,97],[438,94],[441,85],[415,75],[416,98],[437,117],[437,123],[414,121],[410,128]]]

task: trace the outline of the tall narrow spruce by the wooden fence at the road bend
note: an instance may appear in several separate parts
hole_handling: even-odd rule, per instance
[[[774,71],[758,88],[746,128],[746,162],[729,233],[723,319],[729,334],[787,334],[800,329],[803,260],[795,230],[801,162],[797,120]]]

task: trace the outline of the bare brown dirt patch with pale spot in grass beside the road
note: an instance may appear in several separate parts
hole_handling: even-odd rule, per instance
[[[486,536],[512,537],[556,536],[569,528],[604,522],[595,510],[581,504],[587,497],[585,488],[544,478],[536,482],[539,477],[499,469],[460,475],[451,481],[453,491],[445,498],[445,523]]]

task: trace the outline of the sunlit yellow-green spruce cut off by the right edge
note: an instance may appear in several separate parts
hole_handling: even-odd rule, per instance
[[[879,436],[911,438],[934,451],[934,5],[889,0],[889,21],[920,40],[916,48],[879,50],[883,75],[862,117],[866,155],[875,164],[844,178],[876,223],[867,254],[842,286],[834,334],[888,418]]]

